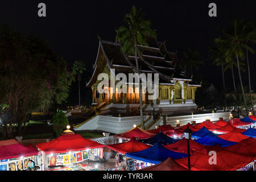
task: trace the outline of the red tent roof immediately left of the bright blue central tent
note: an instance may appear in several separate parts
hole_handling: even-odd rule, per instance
[[[120,152],[122,154],[126,154],[127,152],[142,151],[142,150],[145,150],[145,149],[150,148],[152,146],[150,146],[148,144],[141,143],[138,140],[136,140],[135,138],[131,138],[129,140],[129,142],[109,144],[109,145],[106,145],[106,147],[108,147],[108,148],[110,148],[114,151]]]

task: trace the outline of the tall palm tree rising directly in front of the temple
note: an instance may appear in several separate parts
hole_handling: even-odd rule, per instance
[[[155,36],[155,31],[153,31],[150,26],[149,20],[143,20],[141,9],[136,10],[135,6],[131,8],[131,13],[125,15],[124,22],[127,23],[127,27],[119,27],[117,31],[116,40],[120,40],[122,43],[122,49],[125,53],[135,56],[136,61],[136,72],[139,73],[139,63],[138,63],[138,47],[137,45],[148,46],[146,36]],[[141,55],[139,53],[139,55]],[[138,79],[139,80],[139,79]],[[141,126],[144,130],[143,122],[143,111],[142,111],[142,95],[141,95],[141,84],[139,80],[139,106],[141,114]]]

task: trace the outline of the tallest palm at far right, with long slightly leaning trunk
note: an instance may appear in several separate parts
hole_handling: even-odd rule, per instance
[[[238,75],[240,78],[240,84],[243,94],[243,102],[246,109],[246,114],[248,115],[247,105],[246,105],[246,97],[245,91],[243,90],[242,77],[240,72],[240,58],[243,59],[244,54],[242,48],[248,49],[250,52],[254,52],[249,46],[245,44],[246,36],[245,36],[245,23],[243,20],[238,22],[238,20],[234,20],[231,24],[229,31],[224,31],[225,41],[228,43],[228,51],[226,51],[227,59],[231,59],[233,56],[236,56],[237,59],[237,68]]]

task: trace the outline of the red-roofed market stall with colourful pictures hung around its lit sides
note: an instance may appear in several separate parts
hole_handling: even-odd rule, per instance
[[[74,166],[89,159],[89,155],[103,158],[104,145],[83,138],[80,134],[61,135],[46,143],[38,143],[36,147],[43,152],[44,168],[56,166]]]

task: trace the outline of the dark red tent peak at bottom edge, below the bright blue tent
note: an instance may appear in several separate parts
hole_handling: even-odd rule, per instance
[[[139,169],[138,171],[188,171],[188,169],[180,166],[174,159],[169,157],[162,163]]]

